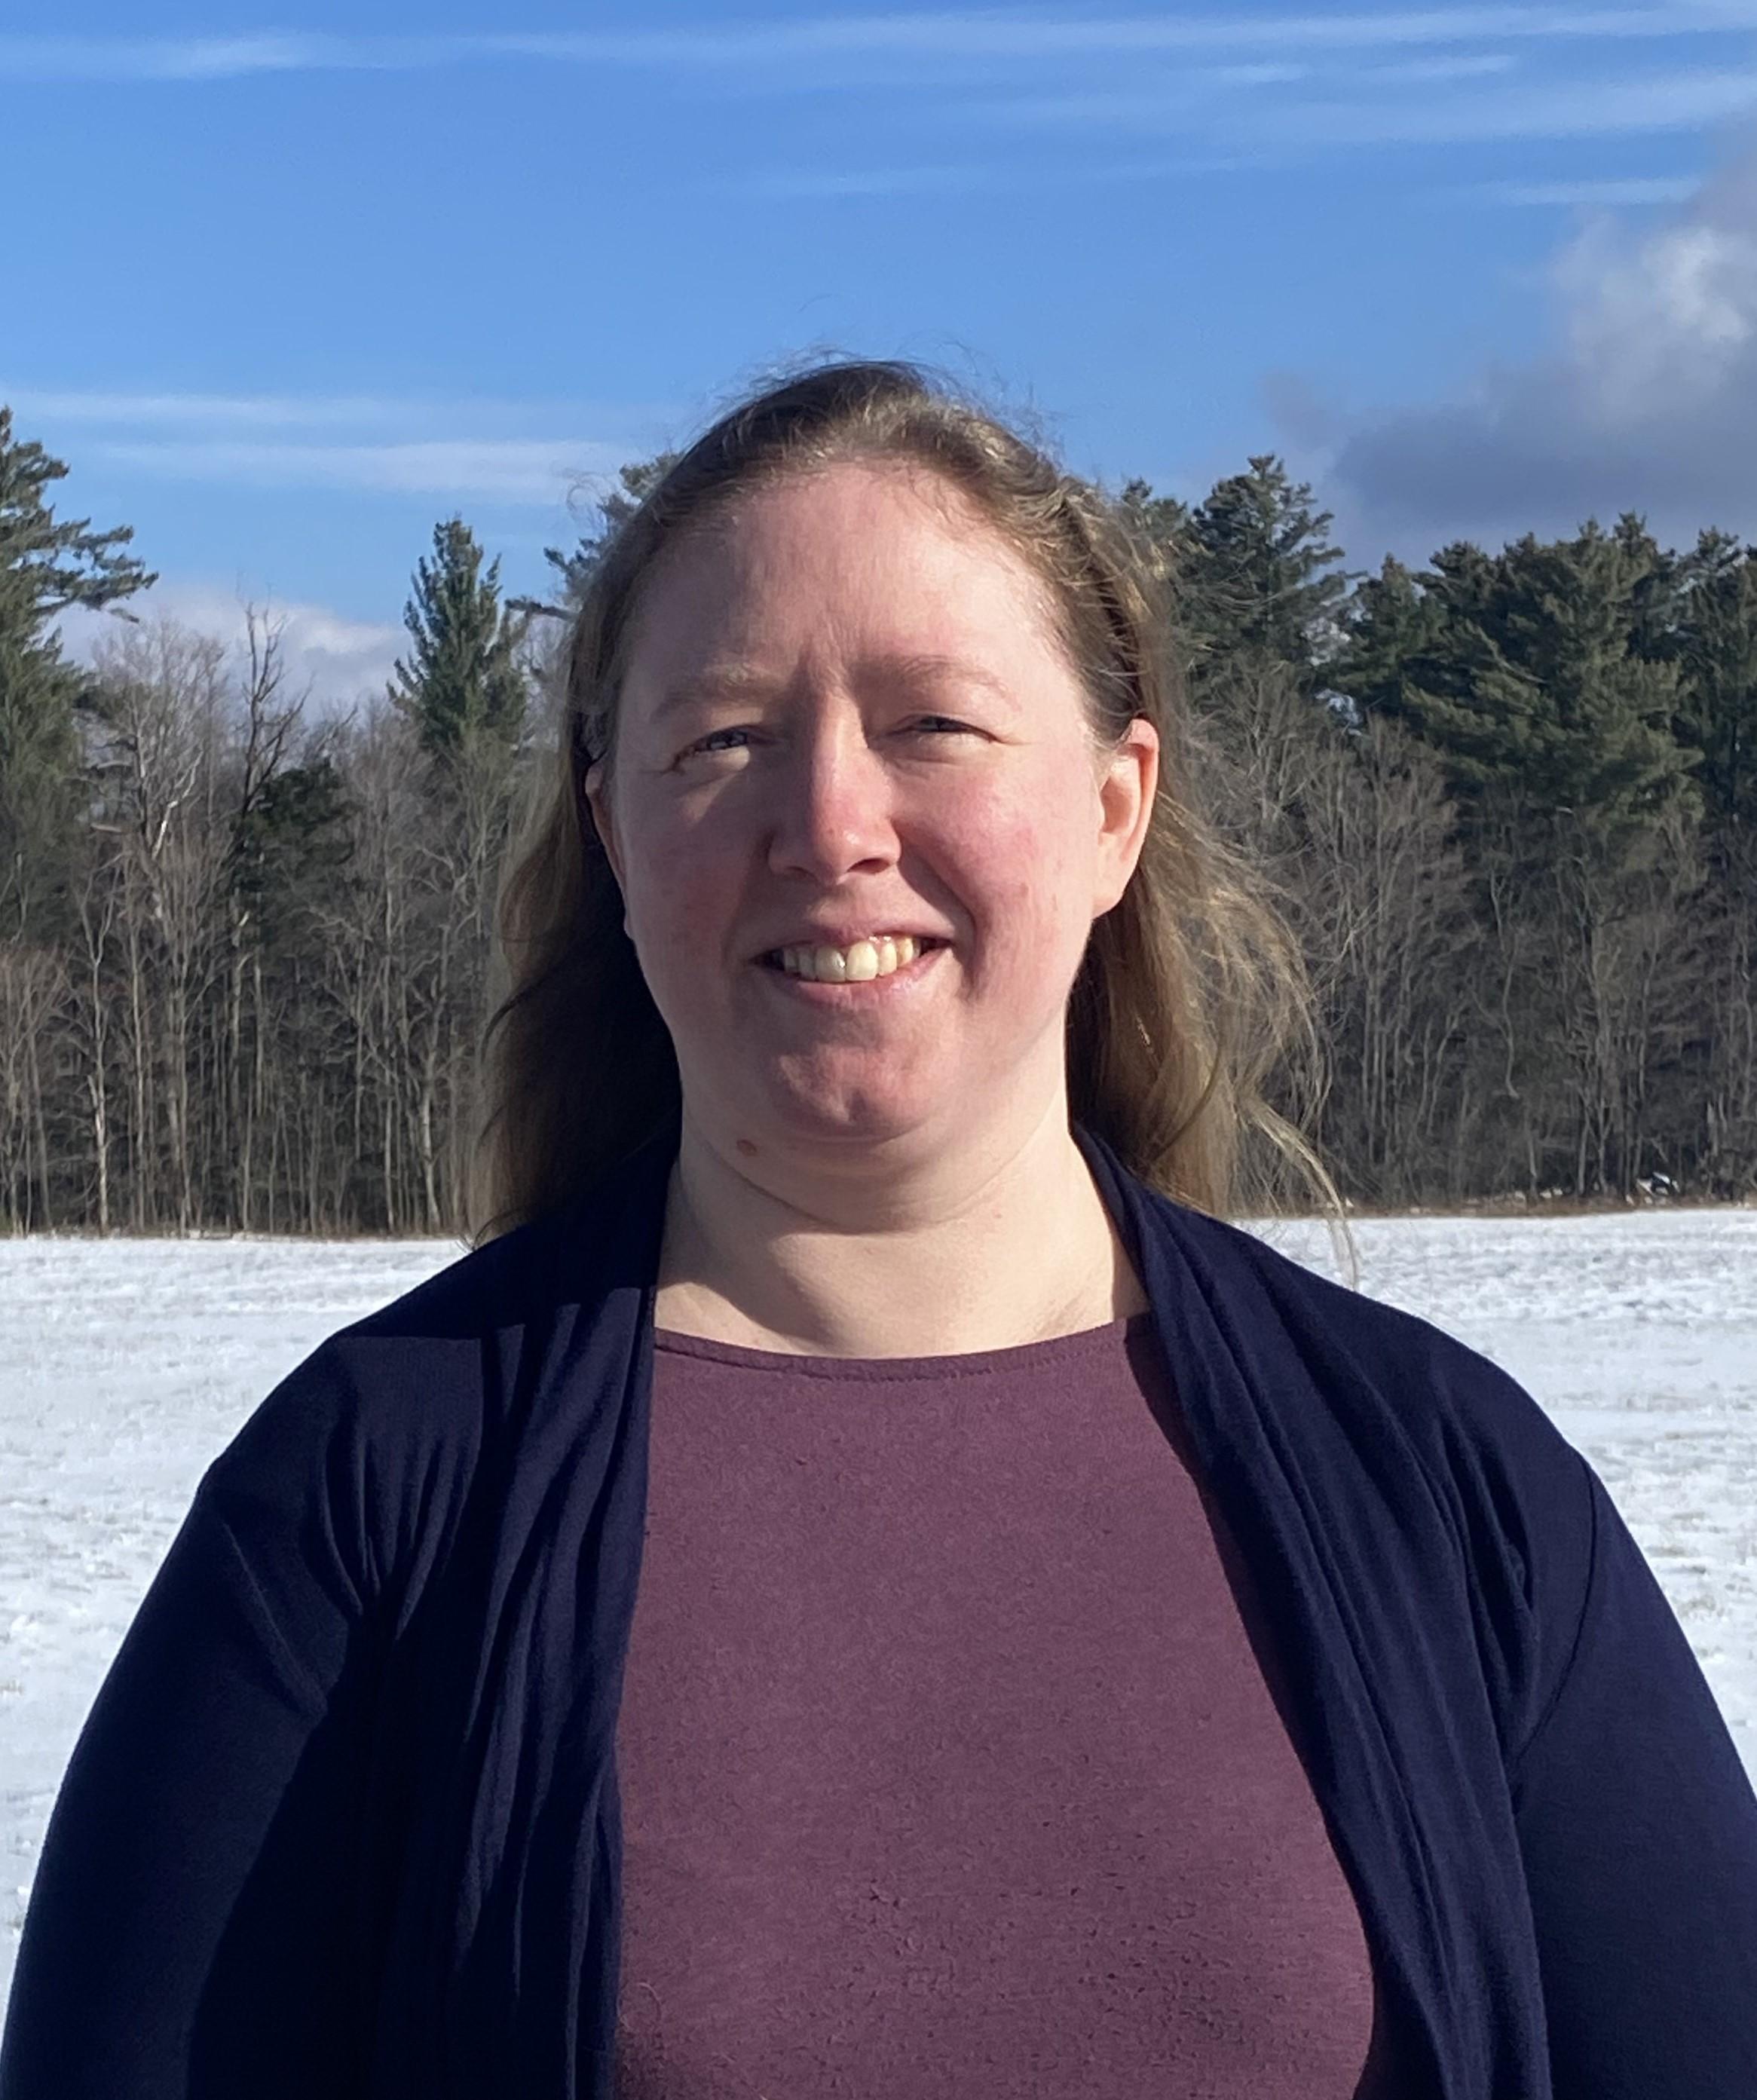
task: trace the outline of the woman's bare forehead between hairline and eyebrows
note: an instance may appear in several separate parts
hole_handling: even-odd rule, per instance
[[[682,525],[640,592],[626,670],[644,685],[712,653],[760,672],[873,640],[928,666],[1060,653],[1047,586],[970,498],[922,468],[846,462]]]

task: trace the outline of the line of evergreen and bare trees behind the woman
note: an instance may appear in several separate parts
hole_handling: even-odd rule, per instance
[[[348,714],[130,615],[126,527],[0,407],[0,1224],[460,1224],[495,882],[630,464],[508,603],[437,525]],[[1358,1205],[1757,1195],[1757,550],[1635,514],[1356,573],[1274,456],[1110,502],[1171,582],[1213,815],[1318,995]],[[69,607],[115,615],[88,664]],[[581,1073],[581,1084],[590,1075]]]

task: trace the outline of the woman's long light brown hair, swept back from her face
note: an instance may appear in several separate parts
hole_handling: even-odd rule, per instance
[[[1213,1216],[1339,1210],[1299,1130],[1320,1052],[1304,960],[1274,892],[1205,815],[1173,649],[1173,578],[1119,504],[953,382],[905,361],[829,359],[770,380],[670,464],[600,544],[565,653],[560,733],[498,899],[468,1231],[481,1243],[588,1189],[680,1109],[670,1031],[623,930],[584,794],[615,773],[617,706],[642,586],[663,548],[733,498],[840,462],[938,475],[1045,586],[1094,750],[1136,716],[1159,788],[1121,901],[1092,926],[1068,995],[1068,1113],[1123,1166]]]

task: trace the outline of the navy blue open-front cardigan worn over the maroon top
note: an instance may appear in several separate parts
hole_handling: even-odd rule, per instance
[[[1597,1476],[1486,1359],[1079,1142],[1411,2096],[1751,2100],[1757,1798]],[[0,2100],[609,2094],[674,1147],[332,1336],[208,1468],[48,1825]]]

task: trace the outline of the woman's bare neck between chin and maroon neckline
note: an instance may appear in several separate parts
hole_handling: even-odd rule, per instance
[[[1140,1310],[1064,1094],[1012,1140],[852,1176],[722,1149],[684,1107],[659,1327],[808,1357],[949,1357]]]

